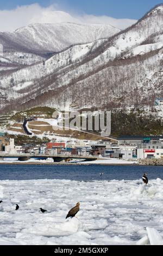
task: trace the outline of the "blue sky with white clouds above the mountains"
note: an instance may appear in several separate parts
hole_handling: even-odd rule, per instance
[[[0,0],[0,31],[30,23],[84,22],[126,28],[160,2],[156,0]]]

